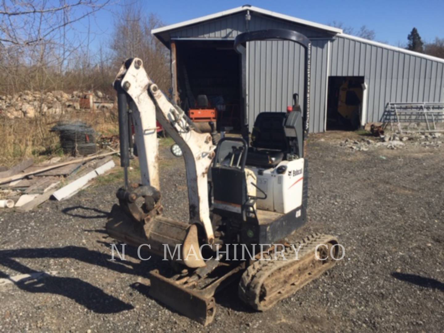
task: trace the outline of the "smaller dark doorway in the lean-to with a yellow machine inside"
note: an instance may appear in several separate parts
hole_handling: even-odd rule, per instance
[[[330,76],[327,130],[354,131],[361,126],[363,76]]]

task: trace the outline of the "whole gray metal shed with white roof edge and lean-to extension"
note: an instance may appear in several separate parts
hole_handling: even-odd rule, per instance
[[[241,67],[233,40],[242,32],[270,28],[301,32],[312,41],[310,132],[328,129],[345,83],[354,84],[359,96],[361,125],[381,121],[389,102],[444,102],[444,59],[250,5],[152,31],[171,52],[174,101],[187,109],[198,94],[222,96],[224,121],[236,126],[242,117]],[[245,108],[251,129],[259,112],[285,111],[293,93],[302,94],[304,52],[287,41],[250,42],[246,52]]]

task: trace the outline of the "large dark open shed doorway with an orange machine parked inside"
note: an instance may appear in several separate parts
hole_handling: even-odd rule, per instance
[[[240,130],[241,64],[233,41],[177,40],[176,49],[180,107],[194,121],[206,123],[215,110],[218,130]]]

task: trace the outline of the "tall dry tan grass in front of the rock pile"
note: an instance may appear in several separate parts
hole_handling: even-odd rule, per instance
[[[115,111],[78,111],[35,119],[1,119],[0,165],[12,166],[26,157],[37,161],[63,155],[59,137],[49,130],[59,121],[81,120],[99,134],[119,132]]]

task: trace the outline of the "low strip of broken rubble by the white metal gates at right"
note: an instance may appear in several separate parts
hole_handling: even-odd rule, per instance
[[[387,134],[381,138],[371,138],[360,140],[345,139],[339,144],[340,147],[349,148],[353,151],[368,151],[376,147],[386,147],[387,149],[398,149],[407,146],[422,146],[426,148],[438,148],[443,144],[440,138],[444,138],[441,133],[415,133],[400,135],[397,133]]]

